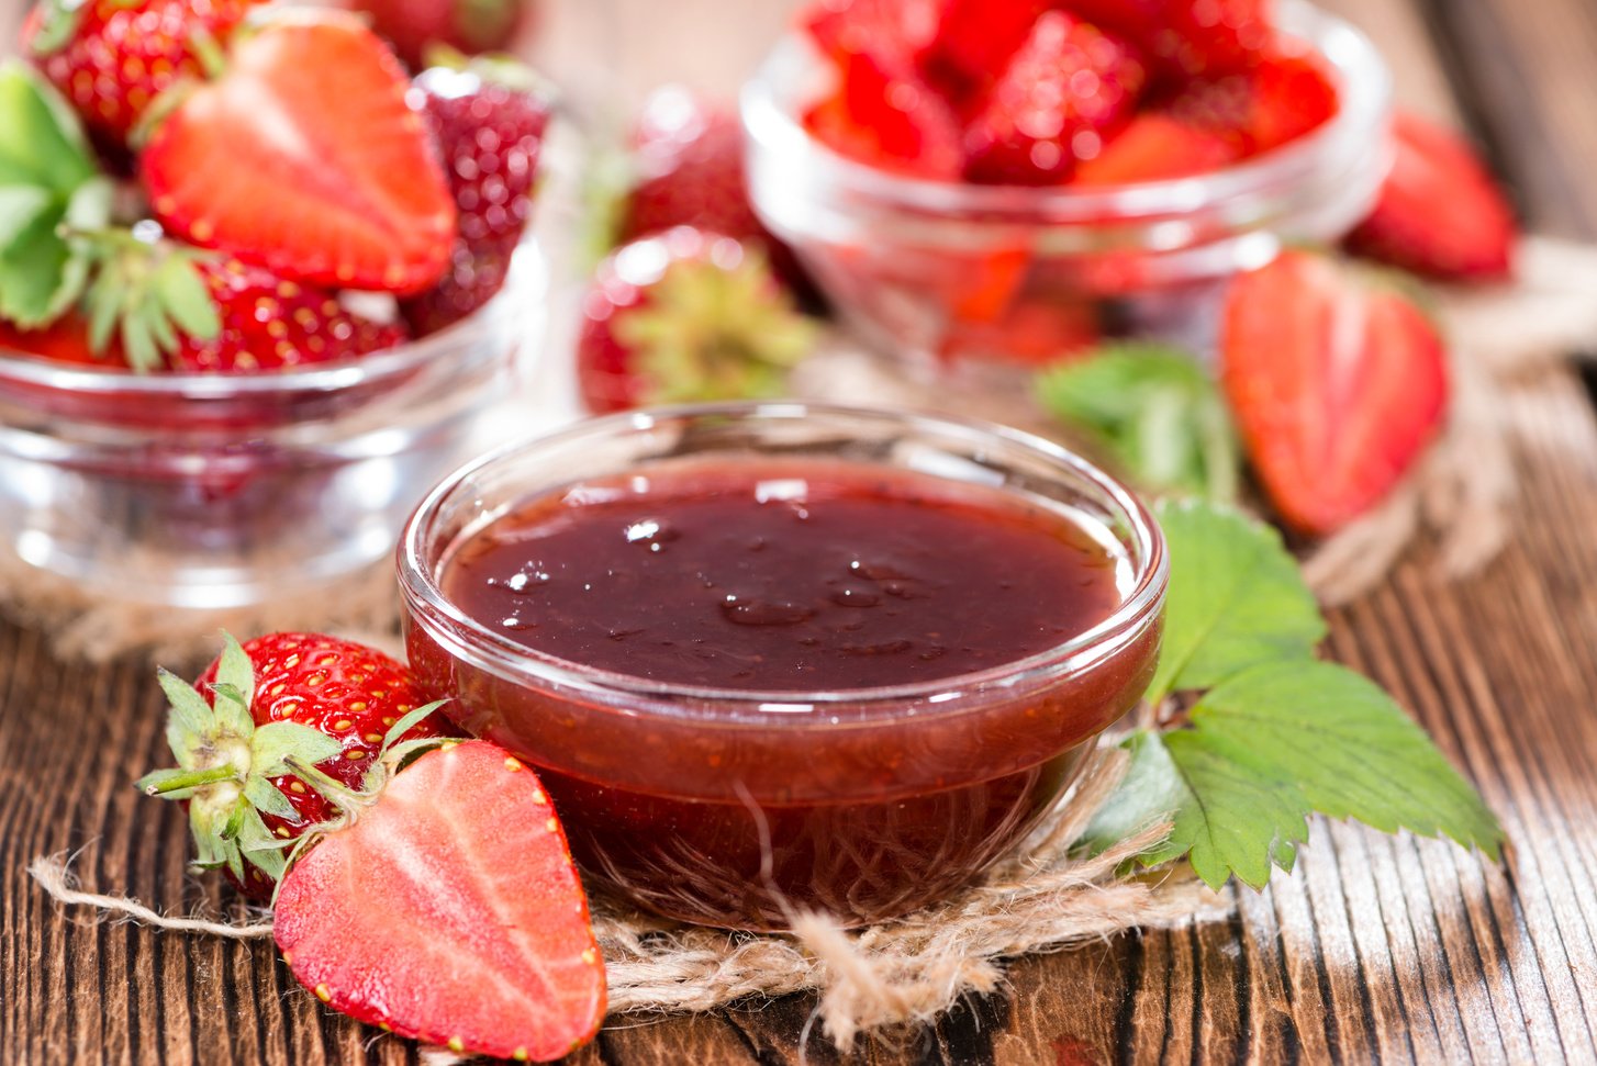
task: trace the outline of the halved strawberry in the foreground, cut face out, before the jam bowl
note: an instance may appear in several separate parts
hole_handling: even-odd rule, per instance
[[[604,1021],[565,835],[532,769],[487,740],[422,755],[321,838],[273,924],[318,999],[457,1055],[549,1061]]]

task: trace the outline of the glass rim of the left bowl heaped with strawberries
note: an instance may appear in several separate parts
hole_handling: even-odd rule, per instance
[[[88,396],[177,396],[185,401],[232,401],[275,394],[342,393],[345,389],[407,375],[452,351],[470,346],[519,321],[525,305],[540,298],[548,266],[538,241],[527,238],[514,252],[505,287],[476,311],[436,334],[407,340],[356,359],[311,364],[270,373],[134,373],[131,370],[78,367],[0,348],[0,389],[22,385],[35,389]]]

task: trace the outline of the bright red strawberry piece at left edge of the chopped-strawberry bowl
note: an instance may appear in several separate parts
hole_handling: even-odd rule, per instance
[[[805,128],[835,152],[913,177],[955,179],[965,164],[952,109],[907,62],[864,51],[838,56],[837,91]]]

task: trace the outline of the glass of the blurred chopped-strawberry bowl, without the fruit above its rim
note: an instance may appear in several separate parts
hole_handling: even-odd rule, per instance
[[[1306,3],[1282,29],[1324,56],[1340,94],[1319,129],[1223,171],[1102,188],[969,185],[848,160],[800,123],[829,70],[789,35],[744,86],[749,193],[832,305],[923,375],[1014,375],[1024,332],[1108,335],[1209,351],[1226,278],[1286,243],[1333,243],[1391,166],[1391,75],[1375,46]],[[1052,319],[1051,319],[1052,316]]]

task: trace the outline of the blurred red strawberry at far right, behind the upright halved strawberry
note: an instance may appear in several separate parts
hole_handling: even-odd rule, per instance
[[[1480,158],[1418,115],[1399,112],[1393,132],[1391,174],[1348,247],[1447,281],[1508,278],[1519,230]]]

